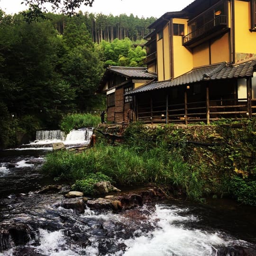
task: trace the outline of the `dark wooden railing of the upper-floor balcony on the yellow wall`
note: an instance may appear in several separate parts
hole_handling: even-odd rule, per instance
[[[228,16],[227,15],[219,15],[218,17],[210,20],[209,22],[205,23],[203,26],[199,27],[198,29],[192,31],[188,35],[183,37],[183,45],[189,43],[192,39],[196,39],[201,37],[202,35],[206,34],[213,30],[213,28],[223,26],[228,26]]]

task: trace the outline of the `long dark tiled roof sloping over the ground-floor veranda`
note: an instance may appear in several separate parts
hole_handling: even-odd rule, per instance
[[[214,81],[220,79],[231,78],[245,78],[252,76],[254,72],[254,66],[256,65],[256,59],[250,60],[240,64],[227,64],[226,62],[220,64],[214,64],[204,66],[200,68],[192,69],[190,72],[185,73],[174,80],[151,82],[144,86],[138,87],[127,94],[135,94],[138,92],[152,91],[156,89],[164,89],[173,86],[179,86],[183,84],[190,84],[201,81]]]

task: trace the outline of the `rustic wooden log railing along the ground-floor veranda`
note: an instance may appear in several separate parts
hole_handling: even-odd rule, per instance
[[[185,101],[179,104],[151,102],[150,106],[140,106],[137,120],[145,123],[205,122],[221,118],[242,119],[256,117],[256,99],[218,99],[206,101]],[[158,103],[158,104],[157,104]],[[160,103],[160,104],[159,104]]]

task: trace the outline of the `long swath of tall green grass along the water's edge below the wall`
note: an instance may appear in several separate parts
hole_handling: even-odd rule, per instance
[[[201,174],[192,170],[179,153],[170,152],[164,144],[140,154],[137,147],[100,144],[82,154],[48,154],[43,170],[70,183],[100,172],[118,184],[175,185],[191,198],[200,198],[205,185]]]

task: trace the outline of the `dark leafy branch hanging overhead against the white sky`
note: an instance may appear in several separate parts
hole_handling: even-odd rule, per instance
[[[76,14],[75,9],[78,9],[83,5],[92,6],[94,0],[23,0],[21,4],[25,4],[28,7],[27,11],[23,11],[24,18],[30,22],[38,20],[38,18],[45,18],[44,12],[49,10],[45,6],[51,6],[51,11],[60,12],[72,16]]]

